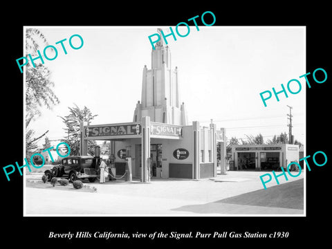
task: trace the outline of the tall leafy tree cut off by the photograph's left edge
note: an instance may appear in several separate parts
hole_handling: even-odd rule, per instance
[[[37,50],[41,45],[48,46],[44,35],[36,28],[26,29],[26,57],[30,54],[37,57]],[[37,140],[45,136],[33,138],[35,131],[28,125],[41,115],[40,108],[46,106],[51,109],[59,103],[59,99],[53,92],[54,83],[50,81],[50,71],[39,59],[35,61],[35,68],[26,64],[26,155],[32,154],[37,149]]]

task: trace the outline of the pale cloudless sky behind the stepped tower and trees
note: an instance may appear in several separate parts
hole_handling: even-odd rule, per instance
[[[36,28],[36,27],[26,27]],[[60,103],[53,109],[42,108],[42,116],[30,123],[35,136],[48,131],[50,140],[66,135],[59,116],[77,104],[98,114],[91,124],[132,122],[136,103],[141,98],[142,70],[151,68],[151,44],[148,36],[167,26],[72,26],[37,27],[57,48],[57,58],[45,60],[52,72],[54,92]],[[174,27],[172,27],[175,30]],[[187,32],[180,29],[181,34]],[[78,34],[82,48],[74,50],[68,39]],[[190,26],[187,37],[167,37],[172,68],[178,67],[181,102],[185,102],[190,123],[210,120],[217,129],[225,127],[228,139],[246,138],[261,133],[264,141],[273,135],[288,134],[288,106],[293,107],[293,135],[305,144],[306,83],[299,78],[306,72],[306,30],[303,26]],[[61,45],[67,39],[64,54]],[[74,46],[79,46],[77,37]],[[52,54],[48,52],[48,56]],[[23,56],[23,55],[22,55]],[[273,95],[267,107],[259,93],[285,88],[289,80],[302,83],[298,94]],[[291,84],[297,91],[299,86]],[[57,145],[59,141],[51,142]],[[44,143],[44,138],[38,145]]]

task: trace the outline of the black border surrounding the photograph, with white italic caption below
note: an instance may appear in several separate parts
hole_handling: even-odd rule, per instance
[[[324,151],[328,163],[324,167],[311,167],[306,174],[306,217],[23,217],[23,176],[12,174],[10,182],[1,170],[1,242],[23,242],[22,246],[57,245],[93,246],[156,246],[174,244],[183,246],[191,242],[195,246],[215,243],[224,246],[245,245],[286,246],[295,242],[304,245],[308,241],[327,241],[326,229],[329,218],[329,185],[331,178],[331,148],[327,145],[331,138],[329,102],[331,84],[331,13],[326,3],[317,1],[290,6],[289,3],[275,1],[260,5],[235,2],[234,6],[222,1],[205,6],[201,2],[179,3],[138,1],[136,6],[126,2],[126,6],[113,2],[76,2],[73,6],[57,2],[50,6],[39,2],[25,2],[24,6],[10,6],[1,16],[1,68],[2,68],[2,122],[1,122],[1,167],[24,158],[23,155],[23,74],[17,68],[16,59],[23,56],[23,26],[176,26],[196,15],[210,10],[216,16],[214,26],[306,26],[306,72],[311,89],[306,88],[306,155]],[[208,16],[206,16],[208,17]],[[207,20],[207,23],[210,23]],[[329,62],[329,64],[328,64]],[[328,78],[324,84],[313,81],[316,68],[324,68]],[[222,68],[221,68],[222,70]],[[304,72],[304,73],[306,73]],[[280,72],[282,73],[282,72]],[[294,75],[297,78],[299,75]],[[273,75],[271,75],[273,77]],[[259,89],[257,89],[258,91]],[[309,162],[312,162],[309,160]],[[16,172],[17,173],[17,172]],[[50,231],[88,232],[289,232],[288,239],[48,239]],[[13,244],[11,244],[13,245]]]

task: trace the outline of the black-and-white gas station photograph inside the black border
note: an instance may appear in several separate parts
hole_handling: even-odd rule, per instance
[[[25,34],[26,216],[305,215],[305,27]]]

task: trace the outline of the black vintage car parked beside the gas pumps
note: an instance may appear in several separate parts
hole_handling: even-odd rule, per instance
[[[60,165],[44,172],[48,181],[53,177],[68,178],[73,182],[78,178],[88,178],[91,183],[99,177],[96,171],[96,158],[93,156],[68,156],[61,160]]]

